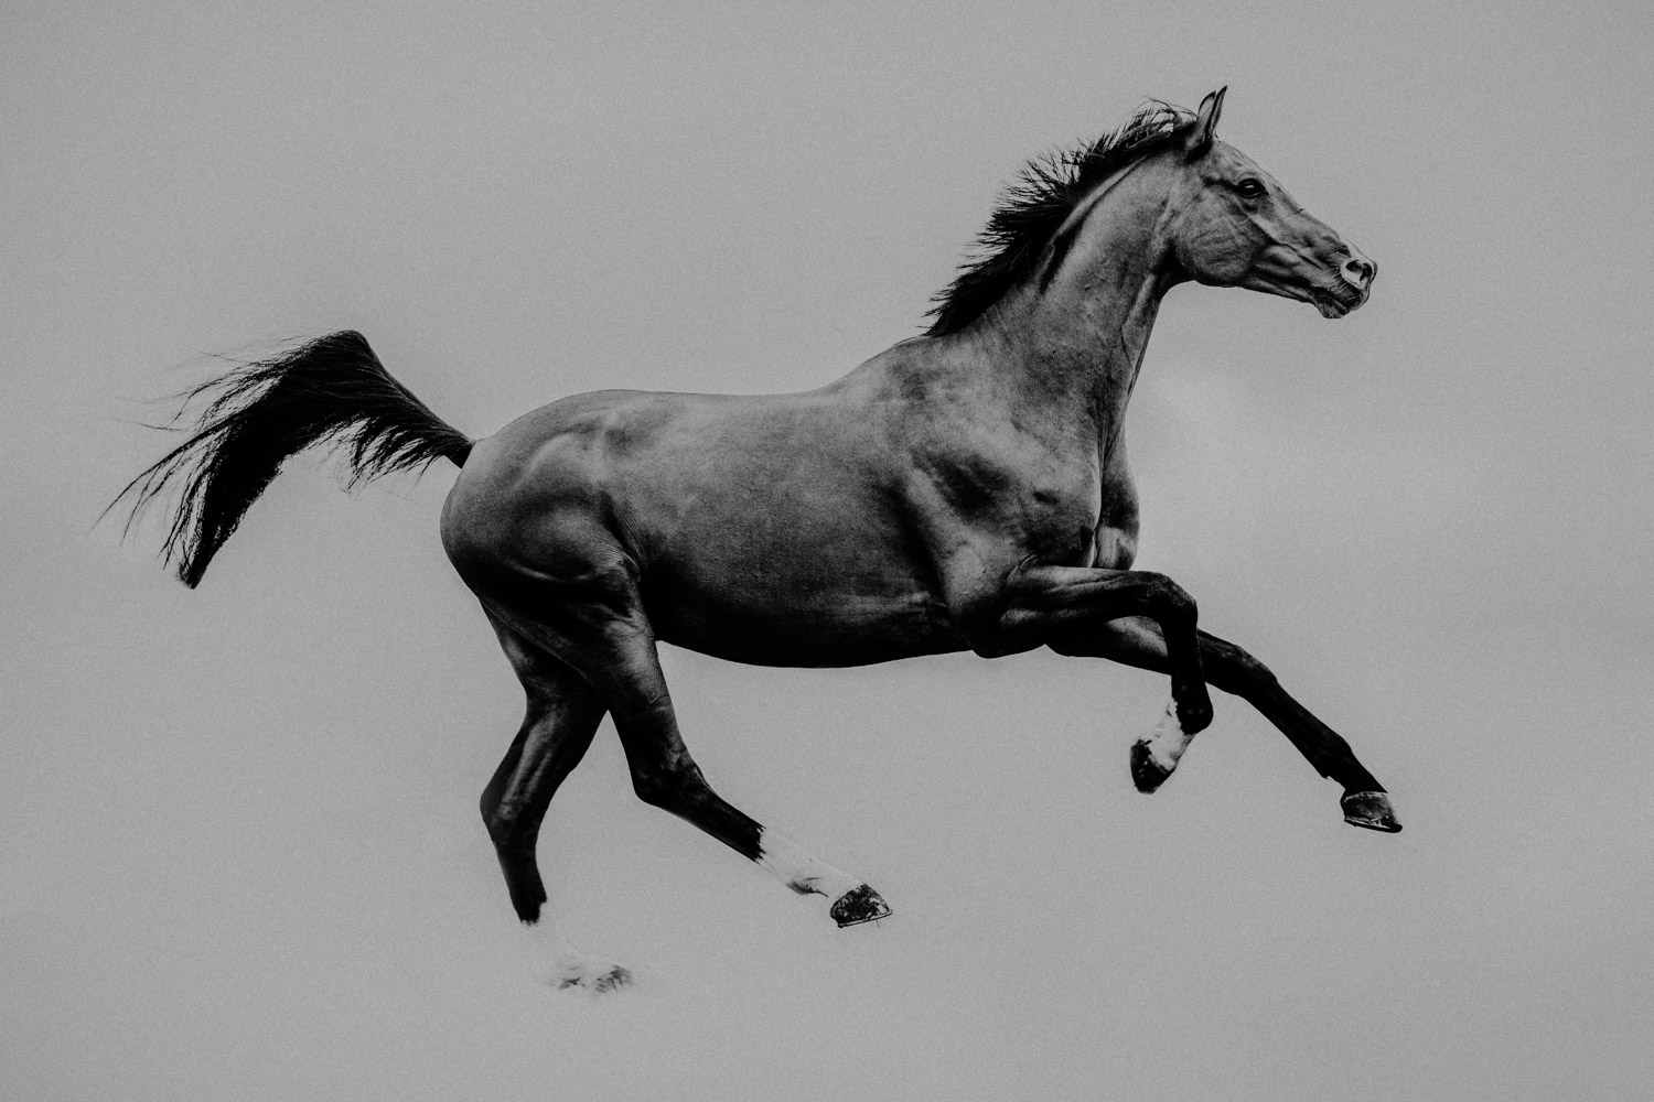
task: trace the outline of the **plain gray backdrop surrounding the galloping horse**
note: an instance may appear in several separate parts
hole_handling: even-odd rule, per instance
[[[782,7],[5,5],[0,1094],[1641,1097],[1649,8]],[[473,435],[819,385],[1025,157],[1219,84],[1381,273],[1336,324],[1169,296],[1140,565],[1404,834],[1229,697],[1138,796],[1164,684],[1102,663],[668,651],[713,781],[896,915],[839,932],[642,806],[605,725],[543,854],[640,983],[559,996],[476,816],[521,701],[452,469],[294,461],[198,593],[93,527],[164,448],[136,400],[248,340],[359,327]]]

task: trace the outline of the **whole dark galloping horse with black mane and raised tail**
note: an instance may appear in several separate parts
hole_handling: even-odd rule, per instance
[[[339,332],[202,387],[194,435],[127,486],[134,512],[184,484],[167,558],[194,587],[281,463],[318,441],[342,441],[357,477],[461,468],[443,547],[528,691],[483,819],[561,986],[629,980],[556,933],[534,862],[552,793],[605,714],[640,798],[825,895],[839,925],[890,914],[860,877],[711,790],[678,735],[660,641],[764,666],[1049,646],[1159,671],[1171,704],[1131,750],[1143,791],[1211,722],[1211,682],[1343,785],[1346,821],[1398,831],[1343,739],[1250,654],[1197,631],[1171,578],[1131,570],[1121,425],[1166,291],[1240,286],[1341,317],[1376,271],[1214,139],[1222,99],[1151,102],[1030,164],[930,330],[819,390],[576,395],[471,441]]]

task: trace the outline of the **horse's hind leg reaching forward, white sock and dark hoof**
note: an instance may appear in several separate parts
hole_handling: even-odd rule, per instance
[[[602,694],[632,770],[632,786],[645,803],[672,811],[741,856],[758,862],[801,895],[825,895],[840,925],[872,922],[888,904],[860,877],[812,856],[786,834],[743,815],[713,791],[678,734],[655,636],[630,580],[567,620],[524,625],[547,649],[564,654]]]

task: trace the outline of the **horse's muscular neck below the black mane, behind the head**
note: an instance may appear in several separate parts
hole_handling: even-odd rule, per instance
[[[1088,215],[1087,256],[1073,256],[1045,286],[1035,274],[963,334],[1019,413],[1088,423],[1105,453],[1174,283],[1158,236],[1164,202],[1153,188],[1108,200]]]

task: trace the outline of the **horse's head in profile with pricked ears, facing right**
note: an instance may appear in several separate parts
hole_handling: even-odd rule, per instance
[[[1378,266],[1272,175],[1212,131],[1224,91],[1201,101],[1183,139],[1164,233],[1178,266],[1216,287],[1269,291],[1343,317],[1366,302]]]

